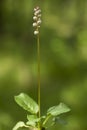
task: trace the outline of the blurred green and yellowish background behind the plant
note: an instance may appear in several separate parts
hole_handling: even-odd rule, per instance
[[[12,130],[26,112],[14,96],[37,100],[37,45],[33,8],[42,9],[41,109],[64,102],[67,125],[50,130],[87,130],[87,0],[0,0],[0,130]]]

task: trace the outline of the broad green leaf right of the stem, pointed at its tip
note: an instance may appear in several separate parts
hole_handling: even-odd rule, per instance
[[[57,106],[53,106],[49,108],[47,111],[47,114],[48,115],[50,114],[52,116],[58,116],[60,114],[63,114],[69,111],[70,111],[70,108],[67,105],[65,105],[64,103],[60,103]]]

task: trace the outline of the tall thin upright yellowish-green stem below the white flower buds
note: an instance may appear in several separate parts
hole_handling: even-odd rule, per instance
[[[40,41],[39,34],[37,35],[37,56],[38,56],[38,105],[39,105],[39,113],[38,117],[40,118]]]

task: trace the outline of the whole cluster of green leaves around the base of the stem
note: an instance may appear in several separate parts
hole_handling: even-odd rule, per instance
[[[48,120],[54,119],[60,114],[66,113],[70,111],[70,108],[67,107],[64,103],[60,103],[57,106],[53,106],[47,110],[46,116],[42,116],[40,118],[37,117],[37,113],[39,111],[39,106],[38,104],[27,94],[21,93],[18,96],[15,96],[15,101],[19,106],[21,106],[24,110],[27,110],[30,112],[32,115],[27,115],[27,123],[25,124],[24,122],[20,121],[16,124],[16,126],[13,128],[13,130],[17,130],[20,127],[25,127],[25,128],[30,128],[30,127],[37,127],[37,124],[41,122],[41,119],[43,118],[44,121],[42,122],[42,127],[46,125]],[[54,120],[52,124],[55,124]],[[50,124],[50,126],[52,126]]]

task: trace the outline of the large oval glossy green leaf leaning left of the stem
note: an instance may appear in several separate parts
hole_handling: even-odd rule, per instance
[[[38,104],[25,93],[15,96],[15,101],[19,106],[32,114],[37,114],[39,111]]]

